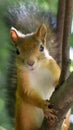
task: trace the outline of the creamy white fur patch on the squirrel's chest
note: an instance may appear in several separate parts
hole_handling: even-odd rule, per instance
[[[55,86],[53,76],[48,69],[30,71],[30,83],[43,99],[50,99]]]

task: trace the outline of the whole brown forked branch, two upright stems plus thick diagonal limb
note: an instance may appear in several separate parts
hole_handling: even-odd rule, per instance
[[[60,87],[58,87],[50,99],[51,106],[53,105],[52,108],[56,111],[57,120],[55,119],[55,122],[52,124],[52,126],[51,120],[46,121],[46,130],[60,130],[64,116],[73,104],[73,72],[65,81],[69,69],[69,37],[72,5],[73,0],[59,0],[56,37],[56,42],[58,44],[56,57],[60,61],[62,59],[62,73],[59,82]]]

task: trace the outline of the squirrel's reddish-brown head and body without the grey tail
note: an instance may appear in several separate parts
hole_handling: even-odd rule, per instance
[[[47,100],[58,84],[60,67],[46,47],[45,24],[29,34],[12,27],[10,35],[17,49],[15,130],[38,130],[47,111],[52,115]]]

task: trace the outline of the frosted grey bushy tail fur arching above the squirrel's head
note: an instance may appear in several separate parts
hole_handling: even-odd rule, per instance
[[[56,17],[44,9],[40,9],[36,3],[29,2],[17,3],[14,7],[10,6],[5,17],[9,27],[14,26],[23,33],[30,33],[41,23],[56,28]]]

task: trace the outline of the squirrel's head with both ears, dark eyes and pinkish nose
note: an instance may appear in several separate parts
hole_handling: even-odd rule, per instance
[[[48,57],[46,49],[47,28],[42,24],[34,33],[22,34],[14,27],[10,30],[16,47],[17,65],[33,70]]]

